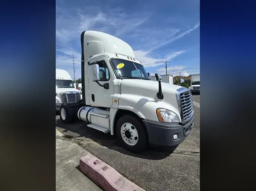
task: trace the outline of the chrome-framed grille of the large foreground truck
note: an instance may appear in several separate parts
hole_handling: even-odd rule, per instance
[[[180,107],[181,120],[185,123],[194,114],[192,94],[187,88],[180,88],[177,90],[176,95]]]

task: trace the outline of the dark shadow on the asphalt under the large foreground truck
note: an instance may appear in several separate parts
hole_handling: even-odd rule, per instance
[[[127,151],[123,147],[121,147],[118,143],[118,139],[116,136],[112,136],[110,133],[103,133],[93,128],[88,128],[85,122],[74,122],[72,124],[63,124],[60,119],[56,120],[56,128],[64,134],[65,139],[67,140],[75,140],[80,146],[84,146],[82,144],[83,140],[93,140],[101,146],[105,146],[108,149],[115,150],[122,154],[126,154],[133,157],[138,157],[142,159],[148,160],[162,160],[166,157],[170,156],[173,151],[177,148],[151,148],[149,147],[146,151],[141,154],[135,154],[130,151]],[[86,146],[85,146],[86,149]]]

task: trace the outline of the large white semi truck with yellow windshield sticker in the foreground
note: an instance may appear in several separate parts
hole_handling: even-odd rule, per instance
[[[175,146],[190,134],[194,111],[190,90],[149,79],[133,49],[97,31],[81,34],[82,100],[62,104],[60,119],[116,134],[129,151],[148,145]]]

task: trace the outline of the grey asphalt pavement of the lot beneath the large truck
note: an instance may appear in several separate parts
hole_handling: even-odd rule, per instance
[[[200,103],[200,95],[192,95],[192,99]],[[79,144],[147,191],[199,190],[200,108],[194,106],[194,111],[194,127],[175,150],[149,148],[134,154],[120,147],[115,136],[88,128],[82,121],[65,125],[59,116],[56,129],[64,140]]]

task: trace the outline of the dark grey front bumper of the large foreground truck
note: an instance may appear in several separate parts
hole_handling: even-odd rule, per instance
[[[179,145],[190,134],[194,125],[194,116],[185,125],[180,123],[163,123],[151,120],[143,120],[148,131],[149,145],[153,147]],[[174,140],[173,135],[178,139]]]

